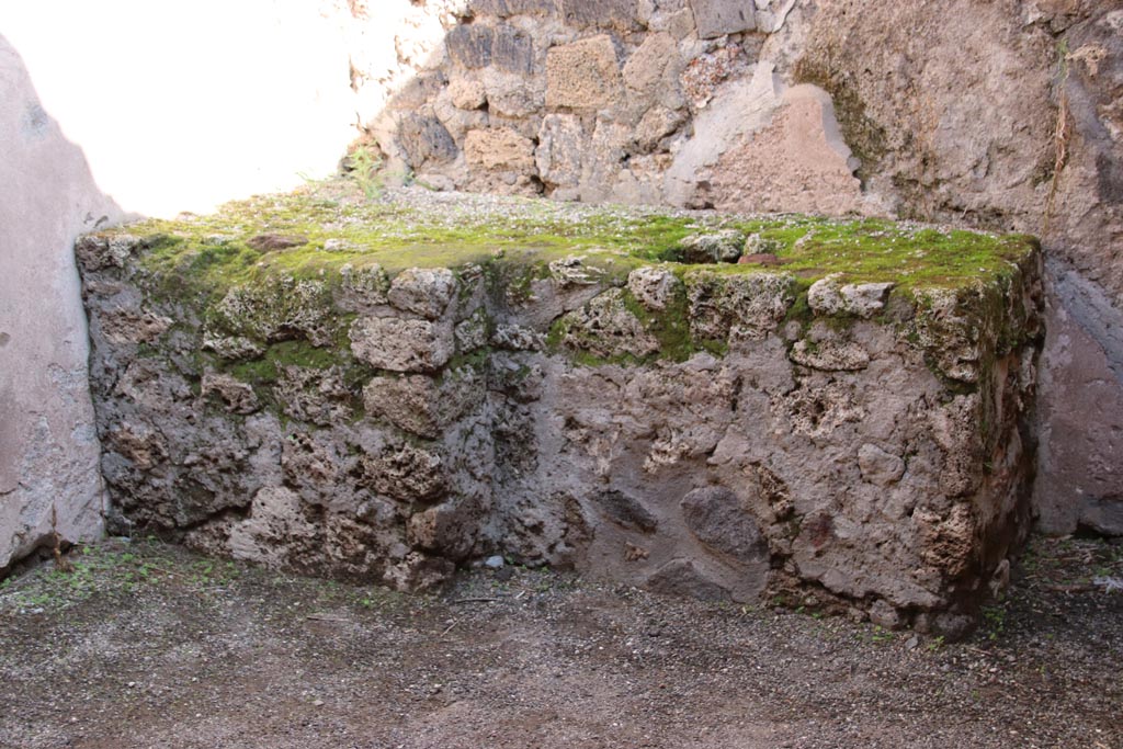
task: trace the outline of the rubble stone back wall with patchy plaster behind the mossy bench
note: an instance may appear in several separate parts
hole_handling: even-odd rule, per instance
[[[1041,236],[1035,513],[1123,533],[1123,2],[429,0],[390,68],[363,8],[353,81],[391,179]]]

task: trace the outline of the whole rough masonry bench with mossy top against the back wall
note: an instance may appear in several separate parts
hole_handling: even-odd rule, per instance
[[[1029,237],[330,184],[76,254],[121,529],[942,632],[1028,530]]]

